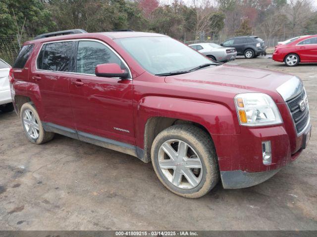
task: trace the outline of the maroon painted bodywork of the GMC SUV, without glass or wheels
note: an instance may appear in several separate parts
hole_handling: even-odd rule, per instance
[[[165,78],[154,76],[112,39],[148,35],[156,36],[133,32],[109,33],[108,36],[93,33],[26,42],[34,43],[35,47],[26,64],[30,70],[11,70],[15,93],[28,96],[43,121],[125,142],[141,149],[144,148],[144,130],[149,118],[168,117],[199,123],[211,134],[221,171],[265,171],[284,166],[297,158],[303,136],[296,135],[287,105],[276,92],[278,86],[293,76],[229,65]],[[104,41],[125,60],[133,79],[36,69],[36,56],[43,42],[72,39]],[[101,66],[98,70],[109,70],[109,66]],[[110,70],[118,71],[113,67]],[[283,124],[240,126],[233,98],[244,92],[270,95],[277,104]],[[262,161],[261,143],[267,140],[272,143],[271,165],[264,165]]]

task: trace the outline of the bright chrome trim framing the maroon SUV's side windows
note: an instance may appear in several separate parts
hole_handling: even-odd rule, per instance
[[[102,43],[104,44],[110,51],[112,51],[124,64],[124,66],[128,69],[128,78],[126,80],[132,80],[132,74],[131,74],[131,70],[128,66],[128,64],[125,62],[125,60],[112,48],[110,47],[110,45],[108,45],[107,43],[105,43],[104,41],[102,40],[95,40],[95,39],[73,39],[73,40],[55,40],[55,41],[48,41],[48,42],[44,42],[42,43],[42,46],[41,46],[41,49],[38,51],[37,53],[37,56],[36,56],[36,61],[35,61],[35,68],[37,71],[41,71],[41,72],[53,72],[53,73],[68,73],[68,74],[76,74],[76,75],[86,75],[86,76],[93,76],[93,77],[97,77],[96,75],[94,74],[87,74],[87,73],[76,73],[76,72],[61,72],[61,71],[53,71],[53,70],[43,70],[43,69],[38,69],[38,65],[37,65],[37,61],[38,61],[38,57],[40,55],[40,52],[43,48],[43,46],[45,46],[46,44],[48,43],[59,43],[59,42],[75,42],[75,41],[94,41],[94,42],[99,42],[99,43]],[[73,52],[73,48],[72,48],[72,57],[75,56],[77,57],[77,47],[76,47],[76,52]],[[45,52],[45,51],[44,51]],[[72,59],[71,59],[72,60]],[[115,78],[115,79],[118,79],[118,78]]]

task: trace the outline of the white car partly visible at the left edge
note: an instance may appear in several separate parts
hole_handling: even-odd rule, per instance
[[[13,111],[10,83],[9,83],[9,71],[10,65],[0,59],[0,111],[10,112]]]

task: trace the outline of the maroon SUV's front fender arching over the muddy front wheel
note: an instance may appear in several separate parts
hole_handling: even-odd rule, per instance
[[[155,137],[160,131],[174,124],[186,123],[197,126],[209,134],[211,141],[213,134],[240,132],[231,111],[215,103],[149,96],[142,99],[137,113],[137,153],[138,157],[143,156],[141,160],[145,162],[151,160],[151,148]]]

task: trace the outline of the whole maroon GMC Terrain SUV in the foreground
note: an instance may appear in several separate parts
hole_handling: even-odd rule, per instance
[[[152,161],[167,189],[192,198],[219,179],[225,189],[259,184],[306,148],[309,107],[295,76],[220,65],[153,33],[49,36],[25,42],[10,71],[35,144],[59,133]]]

